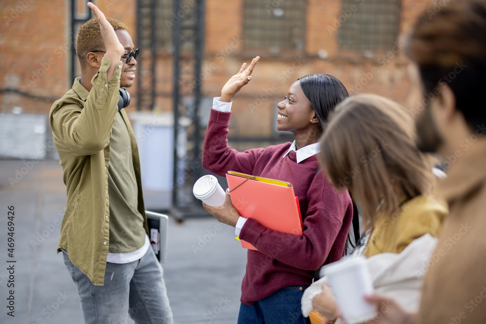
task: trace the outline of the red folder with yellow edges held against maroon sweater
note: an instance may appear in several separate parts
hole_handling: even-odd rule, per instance
[[[279,232],[302,235],[299,201],[292,184],[235,171],[228,171],[226,180],[231,203],[242,217]],[[257,250],[248,242],[241,243],[243,248]]]

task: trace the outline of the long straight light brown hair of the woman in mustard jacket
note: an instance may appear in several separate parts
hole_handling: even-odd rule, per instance
[[[408,199],[430,192],[428,156],[417,149],[414,120],[402,106],[377,95],[356,95],[340,103],[320,139],[318,155],[335,188],[347,188],[360,206],[364,227],[378,213],[399,208],[399,186]]]

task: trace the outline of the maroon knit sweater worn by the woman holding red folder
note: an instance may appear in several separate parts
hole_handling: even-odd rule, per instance
[[[318,168],[316,155],[296,162],[296,153],[282,158],[291,143],[245,152],[228,146],[231,112],[211,109],[204,138],[203,167],[225,176],[229,170],[290,182],[305,215],[303,236],[268,229],[248,219],[240,239],[259,251],[248,250],[241,302],[270,296],[286,286],[310,285],[312,270],[339,260],[344,254],[347,233],[353,217],[349,194],[337,193]]]

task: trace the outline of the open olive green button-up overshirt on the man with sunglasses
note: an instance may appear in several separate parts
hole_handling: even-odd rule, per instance
[[[100,70],[91,80],[93,87],[89,92],[79,79],[74,80],[72,88],[54,102],[49,113],[68,196],[57,252],[67,250],[71,262],[97,286],[104,283],[109,249],[109,140],[118,113],[122,64],[120,61],[115,74],[107,82],[109,66],[110,59],[104,57]],[[137,143],[123,110],[121,117],[130,136],[138,188],[137,210],[145,216]],[[145,217],[144,228],[148,233]]]

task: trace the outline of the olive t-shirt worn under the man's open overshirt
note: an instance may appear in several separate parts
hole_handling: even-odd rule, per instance
[[[123,111],[123,110],[122,110]],[[137,179],[133,169],[132,147],[128,127],[121,117],[115,118],[110,137],[108,195],[110,198],[110,253],[128,253],[145,243],[144,217],[137,210]]]

